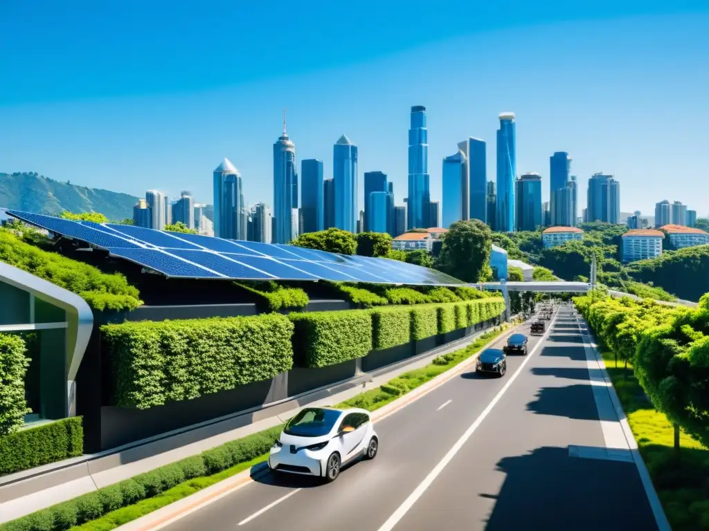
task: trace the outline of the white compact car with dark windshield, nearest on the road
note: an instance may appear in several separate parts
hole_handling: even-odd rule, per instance
[[[357,457],[374,459],[378,449],[367,410],[306,408],[283,428],[268,466],[274,472],[319,476],[329,483],[343,464]]]

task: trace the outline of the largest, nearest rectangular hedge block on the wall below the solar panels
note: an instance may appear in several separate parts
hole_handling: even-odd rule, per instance
[[[293,366],[293,324],[277,314],[101,327],[114,404],[147,409],[272,378]]]

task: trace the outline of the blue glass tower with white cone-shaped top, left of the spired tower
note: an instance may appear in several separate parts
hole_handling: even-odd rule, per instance
[[[241,173],[224,159],[213,173],[214,234],[218,238],[238,239],[243,206]]]

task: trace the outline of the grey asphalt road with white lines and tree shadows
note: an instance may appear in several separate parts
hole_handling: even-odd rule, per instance
[[[462,374],[376,423],[379,455],[333,484],[265,474],[167,529],[656,530],[627,452],[589,457],[623,445],[568,307],[539,342],[501,379]]]

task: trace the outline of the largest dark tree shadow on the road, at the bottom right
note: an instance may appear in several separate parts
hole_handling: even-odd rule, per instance
[[[569,457],[568,447],[541,447],[505,457],[506,474],[487,531],[657,530],[634,463]],[[604,500],[620,503],[598,503]]]

